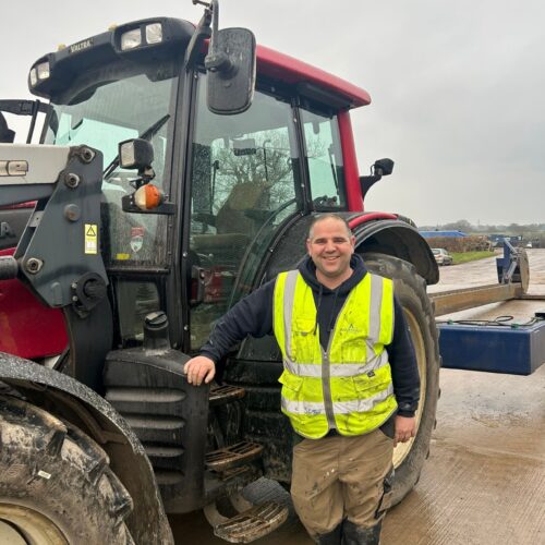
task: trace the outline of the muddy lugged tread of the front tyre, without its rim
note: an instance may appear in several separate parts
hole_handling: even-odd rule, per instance
[[[15,464],[17,475],[2,479],[0,495],[15,504],[33,504],[33,508],[47,513],[51,520],[61,520],[75,542],[85,542],[108,532],[114,543],[133,543],[124,519],[132,511],[132,498],[109,467],[108,455],[89,436],[68,422],[63,422],[22,399],[0,395],[0,468]],[[44,474],[50,476],[43,479]],[[24,475],[26,477],[22,479]],[[66,480],[77,487],[73,506],[64,506],[64,491],[60,497],[49,497],[58,492],[58,482]],[[25,482],[21,482],[25,481]],[[68,485],[70,486],[70,485]],[[38,494],[40,498],[34,496]],[[70,491],[65,491],[66,497]],[[48,504],[41,509],[40,504]],[[90,528],[90,521],[76,520],[71,507],[100,510],[96,513],[101,529]],[[104,510],[104,512],[102,512]],[[94,511],[94,512],[95,512]],[[107,519],[107,520],[105,520]],[[88,522],[88,524],[86,524]],[[102,534],[106,538],[107,535]],[[113,543],[113,542],[112,542]]]

